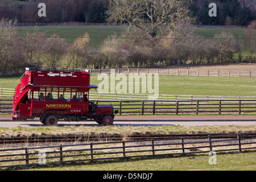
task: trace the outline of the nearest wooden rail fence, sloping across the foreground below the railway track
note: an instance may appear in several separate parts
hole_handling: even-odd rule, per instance
[[[200,154],[213,151],[255,151],[255,133],[250,134],[254,137],[249,140],[243,138],[243,135],[247,134],[7,148],[0,150],[0,168],[162,155]],[[225,139],[220,137],[225,137]]]

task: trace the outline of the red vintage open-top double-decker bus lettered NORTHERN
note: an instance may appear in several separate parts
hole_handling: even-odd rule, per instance
[[[118,110],[89,102],[89,90],[97,88],[90,85],[90,73],[85,69],[26,68],[15,89],[13,120],[40,118],[44,125],[53,126],[58,119],[93,119],[112,125]]]

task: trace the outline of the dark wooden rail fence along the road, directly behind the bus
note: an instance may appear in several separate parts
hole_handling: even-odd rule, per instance
[[[12,113],[12,104],[0,100],[0,113]],[[122,114],[254,114],[256,100],[109,100],[94,101],[97,105],[112,104]]]

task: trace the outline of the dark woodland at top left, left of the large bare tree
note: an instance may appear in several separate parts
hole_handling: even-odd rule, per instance
[[[24,0],[23,0],[24,1]],[[46,4],[46,17],[38,16],[39,3]],[[19,23],[105,22],[108,0],[34,0],[0,6],[0,18]]]

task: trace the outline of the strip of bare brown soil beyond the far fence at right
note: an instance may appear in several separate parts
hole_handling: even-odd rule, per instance
[[[172,66],[169,69],[193,69],[193,70],[229,70],[229,71],[255,71],[255,63],[233,63],[233,64],[203,64],[203,65],[181,65],[181,66]]]

